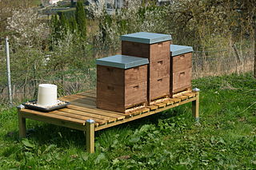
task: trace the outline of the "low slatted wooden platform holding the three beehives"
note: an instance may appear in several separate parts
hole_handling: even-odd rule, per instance
[[[42,113],[30,109],[20,109],[18,114],[20,136],[26,135],[26,118],[82,131],[87,131],[86,127],[91,127],[86,125],[87,120],[94,120],[94,132],[114,125],[120,125],[128,121],[134,121],[138,118],[147,117],[154,113],[159,113],[191,101],[194,101],[194,117],[198,117],[198,97],[199,93],[182,93],[181,96],[166,99],[160,103],[136,109],[130,113],[116,113],[97,109],[96,90],[92,89],[86,92],[60,97],[59,99],[62,101],[69,101],[70,105],[64,109],[58,109],[50,113]],[[91,129],[88,132],[91,133]]]

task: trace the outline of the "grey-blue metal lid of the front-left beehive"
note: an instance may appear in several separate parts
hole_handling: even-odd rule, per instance
[[[139,65],[149,64],[149,60],[145,57],[114,55],[110,57],[103,57],[103,58],[97,59],[96,64],[110,66],[110,67],[117,67],[121,69],[130,69]]]

